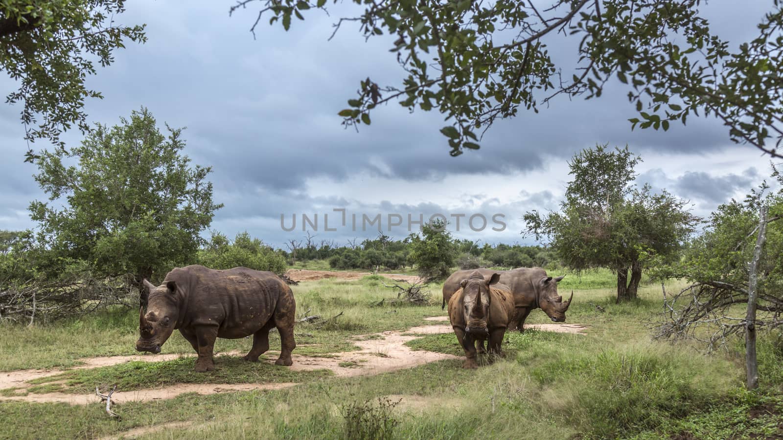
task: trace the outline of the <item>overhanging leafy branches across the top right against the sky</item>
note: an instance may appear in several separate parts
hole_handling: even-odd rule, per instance
[[[520,106],[538,112],[561,94],[598,97],[618,78],[640,115],[630,119],[632,127],[666,130],[670,121],[685,124],[702,111],[723,121],[734,142],[778,155],[779,0],[760,21],[758,36],[734,52],[710,31],[699,0],[555,0],[538,7],[517,0],[353,3],[363,12],[341,18],[335,32],[348,20],[359,22],[364,38],[396,36],[391,56],[406,76],[393,85],[361,81],[358,96],[339,113],[346,125],[370,124],[371,110],[393,101],[410,110],[437,109],[453,123],[441,132],[456,156],[477,149],[475,132],[514,117]],[[244,0],[229,12],[252,4],[259,4],[255,33],[265,16],[288,30],[292,17],[304,20],[308,9],[326,9],[327,0]],[[579,40],[570,64],[555,64],[547,50],[558,34]]]

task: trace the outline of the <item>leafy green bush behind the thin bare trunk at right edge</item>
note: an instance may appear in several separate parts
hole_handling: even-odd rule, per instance
[[[682,259],[661,266],[660,278],[687,280],[689,285],[666,298],[668,312],[659,337],[687,337],[709,348],[727,344],[727,337],[743,334],[748,303],[749,265],[760,225],[760,207],[768,207],[767,240],[758,266],[756,325],[783,326],[783,175],[774,166],[778,190],[763,182],[745,200],[731,200],[709,216],[705,232],[695,238]],[[705,330],[705,327],[710,329]],[[779,363],[774,368],[779,370]]]

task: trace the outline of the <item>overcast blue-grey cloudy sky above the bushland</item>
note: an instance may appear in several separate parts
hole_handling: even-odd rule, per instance
[[[755,23],[771,2],[747,2],[742,9],[722,2],[705,7],[713,28],[734,45],[756,34]],[[137,0],[128,2],[122,23],[146,23],[149,41],[128,43],[115,53],[116,62],[100,69],[88,85],[105,99],[88,102],[91,121],[116,124],[132,110],[147,106],[163,127],[186,126],[185,153],[196,164],[211,165],[215,201],[226,204],[212,228],[233,236],[247,230],[282,247],[301,238],[301,215],[318,215],[316,240],[338,244],[354,236],[377,235],[377,226],[362,231],[362,217],[381,215],[388,233],[389,214],[402,216],[391,236],[407,234],[407,216],[425,220],[435,212],[460,218],[455,233],[489,243],[532,243],[520,235],[521,215],[530,209],[557,207],[568,182],[567,161],[596,143],[628,144],[644,162],[639,182],[666,188],[690,200],[698,215],[706,215],[732,197],[742,197],[769,175],[769,159],[749,146],[728,140],[727,129],[714,120],[691,117],[687,127],[672,124],[669,132],[631,132],[635,114],[627,90],[613,87],[600,99],[561,99],[539,114],[496,124],[485,135],[482,149],[449,157],[438,128],[437,112],[409,114],[399,105],[377,109],[373,124],[359,133],[341,127],[337,111],[345,108],[359,81],[399,84],[399,70],[389,41],[369,42],[344,27],[327,41],[339,16],[315,12],[305,22],[294,20],[291,31],[264,21],[254,40],[248,29],[257,9],[228,16],[233,2],[215,0]],[[350,8],[352,2],[341,5]],[[557,43],[560,44],[560,43]],[[568,42],[554,45],[558,56]],[[558,49],[559,52],[558,52]],[[0,92],[14,89],[0,77]],[[0,104],[0,229],[26,229],[27,205],[45,200],[23,164],[27,145],[19,106]],[[78,132],[69,133],[78,142]],[[34,146],[43,147],[41,143]],[[341,224],[345,208],[346,225]],[[324,231],[323,215],[329,215]],[[352,215],[357,231],[352,231]],[[505,228],[493,222],[503,215]],[[297,217],[297,228],[290,228]],[[484,215],[484,230],[466,225],[471,215]],[[396,218],[395,218],[396,219]],[[455,217],[450,217],[452,228]],[[480,217],[474,227],[482,226]],[[411,225],[416,230],[417,225]]]

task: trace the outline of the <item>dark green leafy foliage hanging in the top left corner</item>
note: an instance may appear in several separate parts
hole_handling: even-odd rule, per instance
[[[144,25],[114,23],[123,12],[124,0],[0,2],[0,71],[19,84],[5,100],[23,103],[28,141],[64,148],[60,135],[71,125],[88,131],[85,98],[102,96],[85,86],[87,75],[96,73],[95,63],[111,64],[124,40],[146,41]],[[26,161],[35,157],[29,150]]]

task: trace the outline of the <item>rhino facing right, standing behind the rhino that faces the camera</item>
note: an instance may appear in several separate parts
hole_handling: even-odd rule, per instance
[[[525,319],[534,308],[541,308],[555,323],[565,322],[565,312],[571,305],[573,292],[568,301],[557,294],[557,282],[564,276],[553,278],[547,275],[547,271],[541,268],[518,268],[503,271],[490,269],[475,269],[482,276],[492,276],[500,273],[500,283],[505,284],[514,294],[514,321],[509,328],[525,331]],[[465,280],[474,272],[474,269],[458,270],[443,283],[443,305],[449,302],[449,298],[460,288],[460,281]]]

